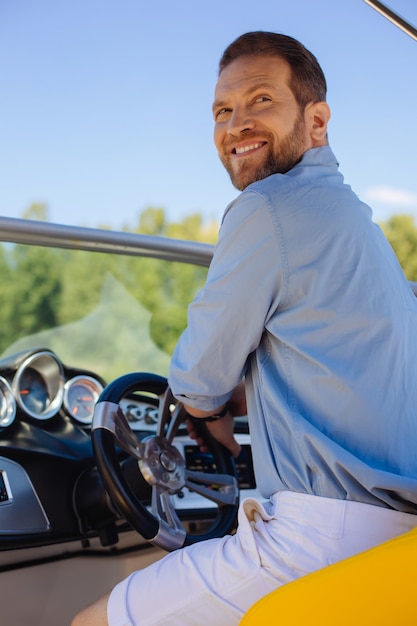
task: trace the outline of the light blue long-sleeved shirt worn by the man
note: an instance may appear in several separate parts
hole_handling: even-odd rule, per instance
[[[210,411],[244,375],[263,496],[417,512],[417,300],[327,146],[227,207],[169,383]]]

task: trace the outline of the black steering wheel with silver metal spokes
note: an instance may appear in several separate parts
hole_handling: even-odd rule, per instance
[[[123,397],[135,391],[150,392],[161,398],[157,434],[143,441],[130,428],[119,406]],[[172,412],[173,404],[176,406]],[[172,396],[166,378],[134,372],[105,387],[95,406],[91,432],[97,468],[114,506],[139,534],[168,551],[227,534],[235,525],[239,504],[234,460],[230,452],[210,436],[204,424],[199,428],[214,457],[216,473],[194,472],[186,468],[182,454],[172,443],[184,417],[185,410]],[[142,476],[151,485],[151,510],[128,484],[118,448],[137,460]],[[186,532],[170,497],[184,487],[217,505],[214,523],[199,534]]]

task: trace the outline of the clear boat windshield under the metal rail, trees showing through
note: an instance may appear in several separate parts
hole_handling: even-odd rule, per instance
[[[196,265],[0,244],[0,355],[49,348],[106,382],[130,371],[167,376],[204,283]]]

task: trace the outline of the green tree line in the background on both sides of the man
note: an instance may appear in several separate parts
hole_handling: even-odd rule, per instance
[[[25,217],[46,219],[32,206]],[[417,227],[409,215],[381,224],[405,275],[417,281]],[[148,208],[135,228],[148,235],[215,243],[217,225],[199,214],[170,223],[165,211]],[[126,229],[128,230],[128,229]],[[121,282],[151,315],[156,345],[171,354],[186,326],[186,305],[203,285],[207,270],[183,263],[38,246],[0,246],[0,354],[21,337],[70,324],[98,306],[106,276]]]

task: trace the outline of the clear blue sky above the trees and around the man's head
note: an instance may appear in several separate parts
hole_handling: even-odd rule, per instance
[[[415,0],[387,3],[417,25]],[[219,221],[237,192],[212,142],[217,63],[258,29],[318,57],[331,146],[375,219],[417,218],[417,42],[363,0],[0,0],[0,214]]]

